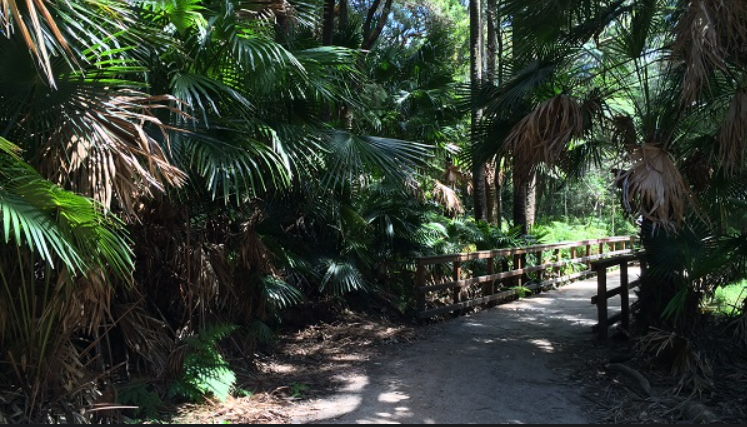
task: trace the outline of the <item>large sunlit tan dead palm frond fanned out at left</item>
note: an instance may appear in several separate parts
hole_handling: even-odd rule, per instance
[[[134,214],[134,198],[163,191],[166,185],[181,186],[185,174],[173,166],[158,141],[148,133],[155,129],[168,144],[171,127],[154,114],[156,109],[180,113],[166,103],[170,96],[151,97],[134,91],[118,91],[77,114],[67,114],[48,140],[40,170],[60,184],[101,202],[105,207],[118,199]]]

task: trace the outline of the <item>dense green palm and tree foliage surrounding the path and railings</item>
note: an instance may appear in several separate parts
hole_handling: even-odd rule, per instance
[[[409,314],[416,257],[535,214],[640,220],[642,320],[686,333],[747,277],[747,7],[479,4],[0,0],[0,419],[225,397],[221,340]]]

